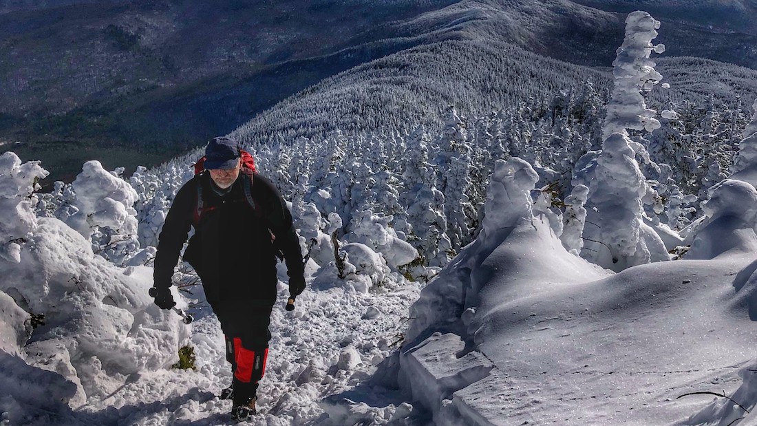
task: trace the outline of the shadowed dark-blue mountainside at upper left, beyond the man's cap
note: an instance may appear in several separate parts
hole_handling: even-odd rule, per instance
[[[449,2],[7,2],[0,149],[23,141],[14,150],[56,179],[92,157],[123,164],[111,148],[167,160],[327,76],[422,43],[393,39],[385,23]]]

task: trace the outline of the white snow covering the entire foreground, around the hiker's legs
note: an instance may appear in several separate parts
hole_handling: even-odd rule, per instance
[[[757,191],[715,185],[687,259],[615,274],[565,248],[560,218],[534,207],[537,181],[523,160],[497,162],[481,234],[422,291],[366,244],[344,245],[344,279],[311,260],[297,309],[273,311],[248,424],[755,424],[724,398],[678,396],[757,405]],[[183,325],[152,305],[148,266],[31,222],[18,262],[0,263],[5,424],[227,424],[216,395],[231,372],[201,292],[175,294],[198,303]],[[32,331],[29,312],[45,325]],[[170,368],[186,343],[197,369]]]

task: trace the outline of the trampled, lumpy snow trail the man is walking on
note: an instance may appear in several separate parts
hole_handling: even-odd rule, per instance
[[[235,423],[231,402],[217,395],[232,380],[223,333],[209,307],[191,311],[197,370],[166,369],[135,375],[111,395],[76,410],[79,424],[387,424],[407,418],[410,406],[397,391],[365,382],[400,343],[418,283],[369,293],[352,288],[309,288],[287,312],[288,292],[279,281],[271,316],[269,359],[258,390],[258,414]],[[193,290],[198,297],[201,289]],[[201,298],[201,296],[200,296]],[[202,303],[202,300],[200,300]],[[204,304],[204,303],[202,303]],[[179,316],[175,318],[181,321]],[[365,390],[356,390],[356,387]],[[349,392],[350,399],[340,396]],[[377,396],[378,395],[378,396]],[[369,400],[357,403],[354,400]],[[397,406],[401,408],[397,410]]]

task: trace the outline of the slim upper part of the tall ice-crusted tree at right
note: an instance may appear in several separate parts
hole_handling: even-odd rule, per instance
[[[655,118],[657,111],[646,107],[641,93],[649,91],[662,79],[654,68],[654,61],[650,60],[652,51],[665,51],[665,45],[652,44],[659,20],[646,12],[635,11],[628,15],[625,23],[625,39],[612,62],[615,86],[607,105],[603,140],[615,132],[625,133],[626,129],[652,132],[660,126]]]

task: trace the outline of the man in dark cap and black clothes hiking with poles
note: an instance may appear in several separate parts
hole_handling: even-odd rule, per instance
[[[242,154],[252,169],[243,164]],[[155,255],[153,294],[161,309],[176,305],[169,290],[171,277],[194,227],[183,260],[200,277],[226,335],[233,379],[220,397],[232,399],[232,418],[244,420],[255,413],[258,381],[266,368],[278,282],[276,255],[285,260],[289,292],[296,297],[305,288],[302,253],[281,194],[254,173],[251,157],[234,139],[213,138],[203,166],[206,171],[179,189],[167,214]]]

